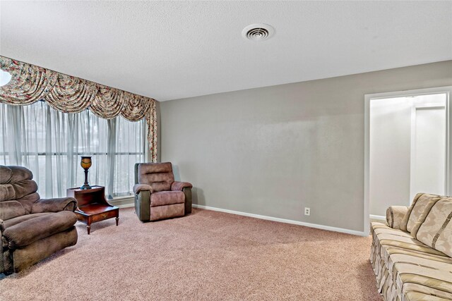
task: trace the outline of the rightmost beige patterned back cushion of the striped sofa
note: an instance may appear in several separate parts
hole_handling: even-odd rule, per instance
[[[452,197],[439,199],[422,215],[417,240],[452,257]]]

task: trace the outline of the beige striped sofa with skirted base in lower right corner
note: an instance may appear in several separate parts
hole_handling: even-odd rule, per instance
[[[452,300],[452,197],[418,194],[371,223],[370,262],[384,300]]]

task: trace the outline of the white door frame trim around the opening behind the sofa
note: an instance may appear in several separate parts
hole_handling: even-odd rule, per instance
[[[369,167],[370,167],[370,102],[371,99],[410,97],[422,94],[446,94],[446,195],[452,195],[452,86],[416,90],[364,94],[364,235],[369,235]]]

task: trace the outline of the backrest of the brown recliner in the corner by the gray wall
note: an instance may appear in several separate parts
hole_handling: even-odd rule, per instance
[[[148,184],[154,191],[171,190],[174,182],[171,162],[135,164],[135,183]]]

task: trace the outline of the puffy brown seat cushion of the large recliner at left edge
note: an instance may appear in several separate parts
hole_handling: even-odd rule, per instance
[[[34,214],[30,214],[33,216]],[[17,218],[16,218],[17,219]],[[71,228],[77,221],[71,211],[42,214],[35,218],[8,226],[3,232],[9,249],[17,249]]]

